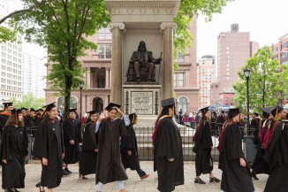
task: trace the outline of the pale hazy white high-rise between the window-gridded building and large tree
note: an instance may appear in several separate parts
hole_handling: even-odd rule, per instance
[[[27,53],[23,56],[23,94],[32,93],[37,98],[44,98],[46,88],[44,58],[36,58]]]

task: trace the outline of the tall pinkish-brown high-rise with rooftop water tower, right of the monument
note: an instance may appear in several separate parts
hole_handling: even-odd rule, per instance
[[[225,90],[231,89],[235,81],[239,81],[239,70],[259,49],[259,43],[250,41],[249,32],[239,32],[239,24],[232,24],[231,32],[221,32],[217,39],[218,88],[214,89],[213,95],[219,96]],[[219,99],[212,98],[212,100]]]

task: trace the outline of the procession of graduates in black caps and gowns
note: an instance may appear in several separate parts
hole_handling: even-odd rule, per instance
[[[171,192],[185,182],[182,139],[175,120],[176,105],[175,98],[162,101],[163,109],[155,121],[152,135],[157,189],[162,192]],[[95,174],[97,192],[113,181],[117,181],[120,192],[126,192],[127,168],[135,170],[140,180],[147,179],[149,174],[140,168],[140,149],[134,130],[137,114],[125,115],[120,107],[110,103],[101,113],[87,111],[87,122],[82,129],[76,109],[69,110],[63,120],[55,103],[44,106],[42,111],[31,109],[29,115],[27,109],[15,110],[11,103],[5,103],[0,114],[2,188],[6,192],[25,188],[28,131],[34,135],[33,155],[42,165],[40,182],[35,185],[40,192],[45,188],[49,192],[57,188],[63,175],[72,173],[69,165],[76,163],[79,163],[80,179],[87,180],[88,174]],[[198,115],[200,118],[193,135],[195,184],[206,184],[201,180],[201,174],[208,173],[209,182],[221,182],[221,191],[253,192],[252,178],[257,180],[256,174],[266,173],[269,179],[264,192],[288,191],[288,126],[284,122],[287,114],[282,107],[263,108],[262,119],[254,113],[251,127],[257,130],[254,134],[257,154],[252,167],[246,162],[242,150],[240,127],[243,119],[238,108],[217,116],[205,107]],[[27,127],[34,129],[27,130]],[[213,146],[213,129],[218,130],[218,146]],[[215,166],[211,151],[216,149],[220,154],[218,168],[222,170],[222,178],[213,174]]]

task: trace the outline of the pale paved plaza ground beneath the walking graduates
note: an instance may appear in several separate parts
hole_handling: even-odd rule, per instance
[[[214,173],[215,176],[221,179],[221,171],[217,168],[217,162],[215,163]],[[138,174],[135,171],[127,170],[129,179],[125,181],[125,188],[128,192],[139,191],[157,191],[157,174],[153,172],[152,161],[141,161],[141,168],[150,174],[150,177],[146,180],[140,180]],[[193,192],[219,192],[220,183],[209,183],[208,174],[201,175],[201,179],[206,181],[206,185],[194,184],[193,179],[195,177],[195,165],[194,162],[185,162],[185,185],[178,186],[174,191],[193,191]],[[72,174],[64,176],[60,187],[54,191],[70,191],[70,192],[82,192],[82,191],[94,191],[95,192],[95,175],[87,175],[88,180],[80,180],[78,175],[78,165],[70,165],[69,169]],[[39,161],[29,162],[26,165],[26,188],[19,189],[21,192],[37,192],[38,188],[35,188],[35,183],[40,180],[41,165]],[[1,174],[2,175],[2,174]],[[1,176],[0,175],[0,176]],[[265,187],[267,175],[258,175],[260,180],[254,180],[254,187],[256,192],[262,192]],[[47,190],[46,190],[47,191]],[[117,189],[117,183],[113,182],[104,185],[102,192],[119,191]]]

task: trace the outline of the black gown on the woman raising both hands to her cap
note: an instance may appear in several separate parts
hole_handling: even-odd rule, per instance
[[[98,130],[96,183],[100,181],[106,184],[128,179],[120,157],[120,136],[126,134],[124,120],[102,119]]]

